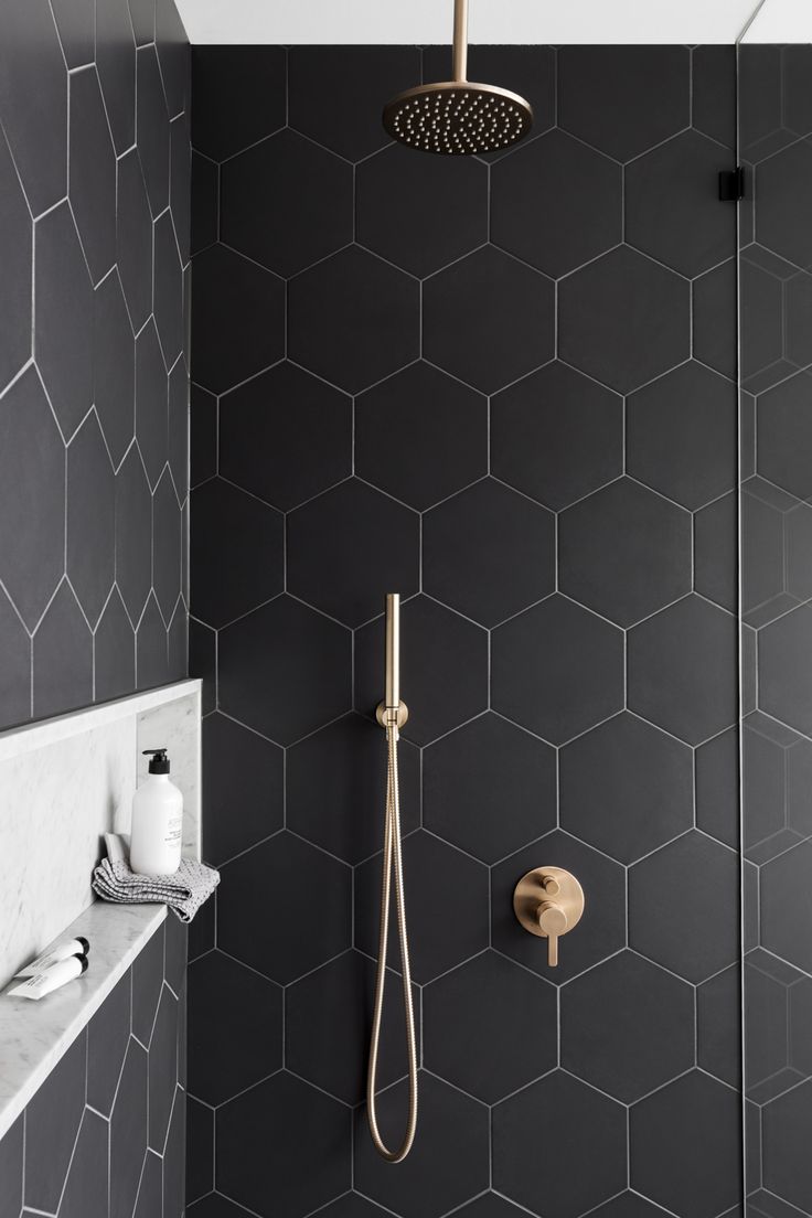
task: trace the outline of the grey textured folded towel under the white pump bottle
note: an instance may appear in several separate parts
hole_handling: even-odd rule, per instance
[[[219,871],[194,859],[181,859],[180,867],[172,876],[136,876],[130,870],[121,838],[112,833],[105,834],[105,838],[108,857],[102,859],[93,873],[93,890],[102,900],[134,905],[161,901],[181,922],[191,922],[220,882]]]

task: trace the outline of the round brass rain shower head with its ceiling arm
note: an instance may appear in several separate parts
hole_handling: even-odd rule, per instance
[[[510,89],[474,84],[467,71],[467,0],[454,0],[454,79],[399,93],[383,107],[392,139],[447,156],[508,147],[527,135],[533,107]]]

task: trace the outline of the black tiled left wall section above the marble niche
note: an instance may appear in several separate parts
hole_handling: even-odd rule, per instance
[[[189,83],[173,0],[4,5],[0,727],[186,674]]]

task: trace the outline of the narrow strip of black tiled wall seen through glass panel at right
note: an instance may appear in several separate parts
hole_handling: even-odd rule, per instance
[[[743,641],[755,698],[744,720],[744,970],[747,1192],[752,1212],[812,1213],[799,1130],[810,1121],[808,219],[812,49],[739,50],[746,171],[739,309]],[[755,428],[750,421],[755,417]]]

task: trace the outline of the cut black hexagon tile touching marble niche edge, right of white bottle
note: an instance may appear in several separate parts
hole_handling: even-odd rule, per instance
[[[282,752],[225,715],[203,720],[203,856],[219,867],[282,827]],[[240,815],[234,815],[235,804]]]

